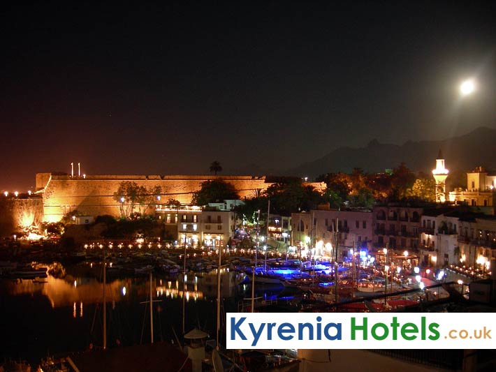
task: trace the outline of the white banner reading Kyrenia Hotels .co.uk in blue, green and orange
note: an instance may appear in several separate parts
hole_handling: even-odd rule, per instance
[[[490,313],[228,313],[228,348],[492,349]]]

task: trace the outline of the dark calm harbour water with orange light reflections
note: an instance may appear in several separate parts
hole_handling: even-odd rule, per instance
[[[195,276],[190,275],[185,292],[185,330],[198,327],[212,332],[216,325],[215,291],[201,278],[199,285],[198,277],[194,282]],[[154,276],[152,288],[154,340],[177,342],[182,335],[182,282]],[[224,293],[223,311],[233,310],[235,298],[240,296]],[[108,347],[149,343],[149,305],[143,304],[149,301],[148,277],[109,278],[105,297]],[[103,283],[97,278],[71,274],[36,280],[3,278],[0,298],[0,359],[24,359],[36,366],[48,355],[102,345]]]

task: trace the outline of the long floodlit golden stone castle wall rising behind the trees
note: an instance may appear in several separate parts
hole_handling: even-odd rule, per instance
[[[86,177],[70,177],[57,174],[36,174],[36,188],[43,194],[44,221],[60,221],[64,214],[78,209],[80,214],[100,216],[110,214],[119,216],[120,203],[113,198],[122,181],[133,181],[138,186],[162,189],[161,202],[169,198],[179,200],[182,204],[190,204],[191,197],[201,187],[201,183],[211,179],[223,179],[233,184],[240,198],[251,197],[256,190],[265,190],[270,183],[265,177],[252,176],[213,176],[213,175],[102,175]],[[46,184],[43,182],[46,181]],[[319,191],[323,184],[311,184]]]

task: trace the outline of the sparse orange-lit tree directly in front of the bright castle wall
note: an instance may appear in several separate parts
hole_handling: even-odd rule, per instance
[[[160,186],[146,188],[138,186],[133,181],[122,181],[114,193],[114,200],[119,203],[122,218],[142,216],[147,209],[159,200],[162,189]],[[138,211],[134,211],[138,209]]]

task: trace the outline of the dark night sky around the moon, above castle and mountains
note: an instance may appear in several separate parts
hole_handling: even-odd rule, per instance
[[[281,174],[373,138],[496,127],[494,1],[62,4],[0,15],[0,191],[71,162]]]

